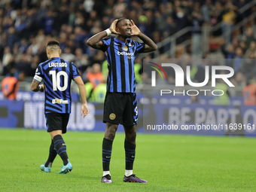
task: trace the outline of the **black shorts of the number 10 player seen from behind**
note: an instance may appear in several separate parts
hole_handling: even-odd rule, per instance
[[[62,133],[67,132],[69,123],[69,114],[48,113],[45,114],[47,132],[62,130]]]

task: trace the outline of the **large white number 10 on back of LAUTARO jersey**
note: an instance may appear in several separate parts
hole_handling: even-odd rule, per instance
[[[68,79],[69,76],[66,72],[57,72],[56,71],[50,71],[50,75],[52,75],[52,80],[53,80],[53,90],[56,91],[57,89],[60,91],[65,91],[68,87]],[[64,82],[62,82],[63,87],[60,86],[60,76],[63,75],[64,77]]]

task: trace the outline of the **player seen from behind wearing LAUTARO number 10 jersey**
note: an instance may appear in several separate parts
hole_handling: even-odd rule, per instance
[[[35,92],[40,90],[45,93],[44,114],[47,132],[50,133],[51,137],[48,160],[40,166],[40,169],[44,172],[50,172],[53,160],[56,154],[59,154],[64,165],[59,173],[67,173],[72,171],[72,163],[69,162],[62,134],[66,133],[71,112],[70,84],[72,79],[78,84],[80,91],[81,115],[85,117],[89,113],[89,109],[84,82],[77,67],[73,62],[61,59],[59,57],[60,53],[58,41],[47,43],[48,60],[40,63],[38,69],[36,69],[31,90]],[[40,84],[41,81],[44,81],[44,84]]]

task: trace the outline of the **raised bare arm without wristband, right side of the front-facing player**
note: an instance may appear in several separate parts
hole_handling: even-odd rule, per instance
[[[139,30],[139,28],[134,24],[133,20],[131,20],[131,23],[132,23],[132,35],[138,36],[145,43],[145,49],[142,50],[141,53],[148,53],[148,52],[157,50],[157,44],[155,44],[154,41],[151,40],[151,38],[148,38],[147,35],[144,35]]]

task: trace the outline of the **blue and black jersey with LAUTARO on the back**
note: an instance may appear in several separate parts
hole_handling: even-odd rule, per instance
[[[35,71],[34,79],[44,81],[45,102],[44,113],[70,113],[72,79],[80,76],[73,62],[60,57],[41,62]]]

